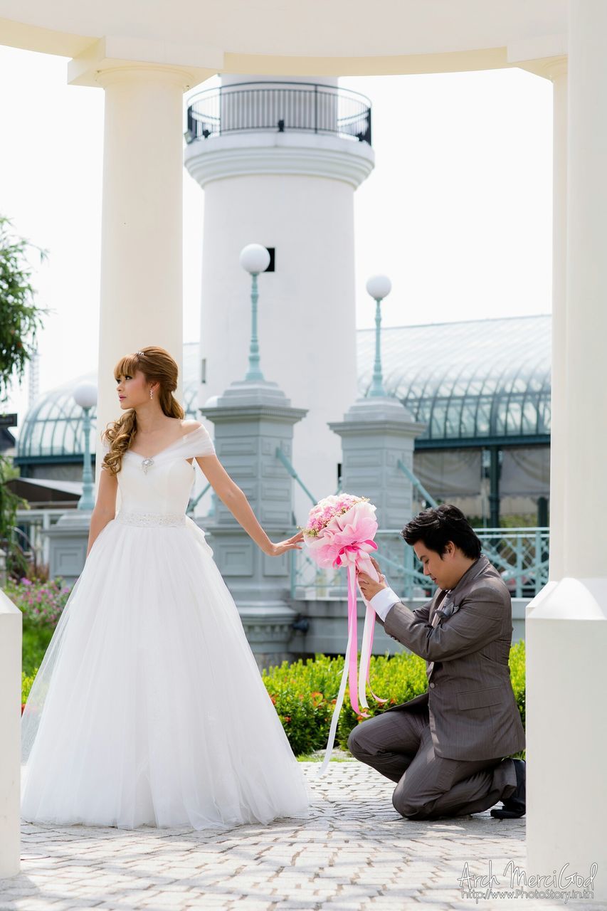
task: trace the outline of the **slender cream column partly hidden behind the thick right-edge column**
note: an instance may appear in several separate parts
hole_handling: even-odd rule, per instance
[[[565,528],[567,389],[567,57],[550,62],[552,80],[552,377],[550,430],[550,579],[562,578]]]

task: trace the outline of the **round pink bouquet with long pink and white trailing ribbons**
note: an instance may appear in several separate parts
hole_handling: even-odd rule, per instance
[[[357,715],[361,713],[358,700],[360,700],[360,704],[365,709],[369,707],[366,701],[367,683],[376,701],[386,701],[376,696],[369,682],[369,662],[373,647],[376,612],[364,596],[363,600],[366,605],[365,628],[363,630],[360,668],[358,673],[356,672],[358,652],[356,569],[358,568],[368,573],[371,578],[378,578],[376,568],[369,557],[369,554],[377,549],[377,545],[373,540],[377,531],[375,513],[376,507],[369,503],[366,496],[353,496],[352,494],[325,496],[323,500],[310,510],[307,524],[302,529],[304,532],[304,544],[307,546],[314,563],[324,568],[345,567],[348,574],[348,642],[345,649],[344,673],[337,701],[335,702],[329,742],[320,770],[321,773],[324,772],[333,749],[339,712],[344,702],[346,680],[349,682],[350,704]],[[358,678],[357,685],[356,678]],[[356,699],[356,693],[358,693],[358,700]],[[365,712],[363,714],[364,717],[367,717]]]

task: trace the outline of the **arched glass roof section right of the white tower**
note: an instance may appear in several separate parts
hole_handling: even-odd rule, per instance
[[[384,387],[427,425],[419,439],[550,434],[550,315],[382,329]],[[357,333],[367,394],[375,329]]]

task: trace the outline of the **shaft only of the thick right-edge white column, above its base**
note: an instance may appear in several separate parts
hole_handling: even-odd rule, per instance
[[[607,576],[607,4],[570,4],[567,420],[564,571]],[[597,533],[598,532],[598,533]]]

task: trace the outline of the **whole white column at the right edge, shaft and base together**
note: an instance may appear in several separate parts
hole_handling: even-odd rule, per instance
[[[527,617],[527,871],[577,872],[607,901],[607,4],[569,13],[566,490],[562,578]],[[554,479],[552,480],[554,484]]]

